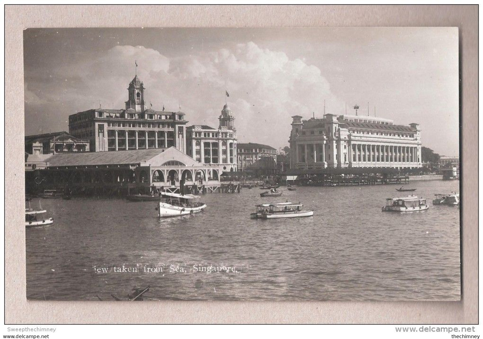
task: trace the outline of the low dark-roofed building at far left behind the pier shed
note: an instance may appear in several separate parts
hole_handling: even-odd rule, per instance
[[[88,152],[89,140],[71,136],[67,132],[54,132],[25,136],[25,152],[28,154],[49,154],[65,152]]]

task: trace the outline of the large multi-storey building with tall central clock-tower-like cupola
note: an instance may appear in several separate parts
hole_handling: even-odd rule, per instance
[[[69,116],[69,133],[89,140],[90,150],[166,149],[186,152],[185,113],[156,111],[144,102],[136,75],[128,86],[125,109],[89,109]]]

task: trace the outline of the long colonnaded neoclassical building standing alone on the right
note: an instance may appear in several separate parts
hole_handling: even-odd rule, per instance
[[[419,124],[326,114],[322,119],[292,117],[292,168],[422,167]]]

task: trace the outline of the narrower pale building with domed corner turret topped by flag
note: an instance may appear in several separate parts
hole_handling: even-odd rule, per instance
[[[221,172],[237,171],[237,136],[233,114],[225,105],[218,128],[193,125],[186,128],[187,154],[200,163],[217,164]]]

